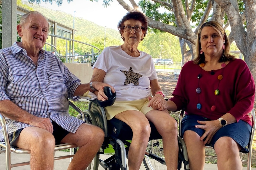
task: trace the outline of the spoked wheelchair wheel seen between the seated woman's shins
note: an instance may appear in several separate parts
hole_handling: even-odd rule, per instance
[[[150,156],[150,154],[145,155],[145,157],[143,159],[143,164],[144,164],[146,170],[163,170],[163,169],[166,169],[166,164],[165,164],[165,161],[164,161],[165,157],[164,157],[162,139],[150,140],[148,142],[147,151],[149,151],[149,153],[154,154],[156,157],[152,158]]]

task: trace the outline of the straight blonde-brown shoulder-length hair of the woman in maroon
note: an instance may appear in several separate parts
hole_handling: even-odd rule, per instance
[[[196,56],[195,59],[193,60],[195,64],[200,64],[205,62],[205,56],[204,53],[200,54],[201,50],[201,42],[200,42],[200,37],[201,37],[201,32],[204,27],[212,27],[214,30],[216,30],[219,34],[221,34],[223,37],[225,37],[225,50],[223,50],[223,55],[220,57],[219,62],[224,62],[224,61],[229,61],[233,60],[235,56],[230,54],[230,43],[227,38],[227,34],[223,27],[216,21],[209,21],[205,22],[201,25],[200,29],[198,30],[197,34],[197,42],[196,42]]]

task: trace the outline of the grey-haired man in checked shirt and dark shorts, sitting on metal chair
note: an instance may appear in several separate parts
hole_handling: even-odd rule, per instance
[[[31,169],[50,170],[55,142],[75,143],[79,149],[68,169],[85,169],[104,133],[70,116],[68,98],[75,101],[88,90],[99,90],[98,99],[104,101],[103,87],[110,85],[81,84],[56,56],[42,50],[49,23],[39,12],[24,14],[17,30],[22,42],[0,50],[0,112],[7,120],[11,145],[31,150]]]

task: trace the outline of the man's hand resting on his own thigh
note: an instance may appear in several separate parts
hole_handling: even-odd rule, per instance
[[[53,133],[53,124],[51,123],[49,118],[42,118],[34,116],[33,119],[31,119],[29,125],[33,125],[35,127],[40,127],[42,129],[45,129],[51,133]]]

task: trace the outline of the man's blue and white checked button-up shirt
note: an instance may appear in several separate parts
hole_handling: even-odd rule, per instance
[[[81,84],[52,53],[40,50],[37,66],[26,50],[16,42],[0,50],[0,101],[10,100],[38,117],[50,118],[62,128],[75,133],[83,123],[68,114],[69,101]],[[5,117],[8,133],[31,125]],[[0,124],[0,141],[4,140]]]

